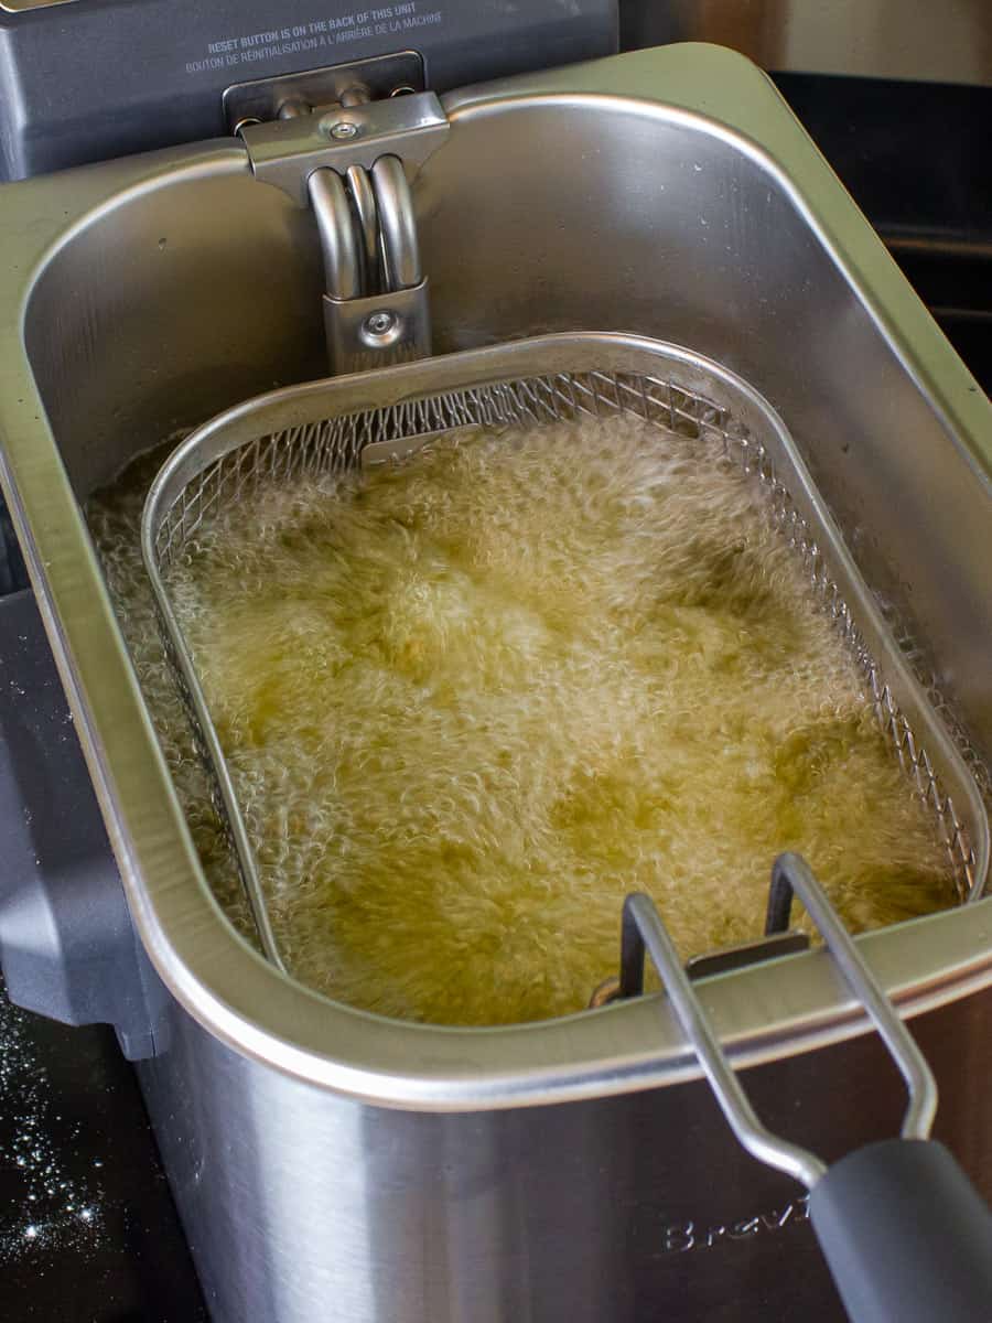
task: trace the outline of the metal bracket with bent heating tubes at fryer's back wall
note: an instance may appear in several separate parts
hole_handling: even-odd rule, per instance
[[[447,138],[448,122],[434,93],[418,89],[423,61],[407,50],[224,94],[255,177],[313,209],[332,373],[430,353],[409,176]]]

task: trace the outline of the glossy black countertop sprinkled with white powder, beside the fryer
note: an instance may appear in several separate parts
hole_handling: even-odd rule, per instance
[[[0,1316],[198,1323],[206,1311],[112,1031],[0,1000]]]

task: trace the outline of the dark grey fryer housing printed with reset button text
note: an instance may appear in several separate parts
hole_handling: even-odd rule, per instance
[[[255,78],[417,50],[443,93],[619,40],[616,0],[24,4],[0,0],[0,181],[222,136],[225,89]]]

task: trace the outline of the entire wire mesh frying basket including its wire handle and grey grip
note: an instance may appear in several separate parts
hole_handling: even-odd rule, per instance
[[[988,869],[981,791],[886,628],[782,419],[742,378],[673,345],[585,333],[411,364],[401,381],[385,369],[366,376],[365,386],[374,404],[362,410],[348,409],[347,390],[333,380],[229,410],[198,429],[165,462],[142,519],[142,554],[165,652],[259,943],[272,964],[286,970],[253,844],[169,594],[171,570],[194,556],[200,534],[247,493],[265,497],[295,479],[402,463],[431,438],[464,426],[529,429],[632,415],[675,431],[689,454],[697,451],[700,462],[709,464],[716,441],[717,452],[762,492],[774,527],[802,560],[819,607],[829,614],[856,659],[893,753],[934,818],[959,898],[981,896]],[[700,442],[705,442],[705,451]],[[901,1139],[868,1144],[828,1167],[815,1152],[770,1132],[727,1064],[647,896],[628,896],[624,905],[618,994],[643,992],[643,963],[649,951],[741,1143],[759,1162],[799,1179],[809,1191],[812,1226],[853,1323],[889,1323],[893,1316],[906,1323],[930,1323],[935,1316],[971,1323],[992,1290],[992,1215],[950,1152],[930,1142],[938,1091],[919,1048],[812,873],[798,856],[783,855],[772,869],[770,913],[783,900],[783,890],[788,909],[794,888],[907,1082],[910,1101]],[[771,950],[761,955],[747,946],[709,959],[733,967],[742,954],[761,959],[778,954],[774,937]]]

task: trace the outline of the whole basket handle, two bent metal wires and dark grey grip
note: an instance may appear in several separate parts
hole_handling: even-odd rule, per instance
[[[743,1147],[811,1191],[813,1230],[853,1323],[991,1323],[992,1213],[951,1154],[927,1139],[936,1084],[923,1054],[799,855],[775,860],[772,892],[779,900],[792,892],[800,897],[906,1080],[899,1139],[868,1144],[827,1168],[809,1150],[772,1134],[755,1115],[661,917],[643,894],[624,904],[626,957],[649,954]]]

